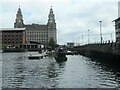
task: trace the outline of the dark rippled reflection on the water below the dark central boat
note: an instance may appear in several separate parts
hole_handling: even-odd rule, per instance
[[[59,85],[59,79],[60,76],[63,75],[65,67],[65,62],[56,63],[51,62],[48,65],[48,73],[47,77],[49,78],[49,81],[51,83],[51,88],[57,88]]]

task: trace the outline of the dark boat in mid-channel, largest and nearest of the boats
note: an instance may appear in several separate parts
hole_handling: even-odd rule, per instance
[[[67,61],[67,57],[66,57],[66,54],[65,54],[63,48],[59,48],[58,50],[56,50],[55,59],[57,62]]]

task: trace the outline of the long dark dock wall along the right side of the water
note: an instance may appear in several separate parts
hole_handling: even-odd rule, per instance
[[[88,44],[75,47],[74,50],[106,64],[120,65],[120,48],[115,44]]]

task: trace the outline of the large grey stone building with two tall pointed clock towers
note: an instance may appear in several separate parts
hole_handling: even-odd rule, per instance
[[[53,38],[57,43],[56,38],[56,22],[55,15],[53,13],[53,9],[51,7],[47,24],[39,25],[39,24],[24,24],[23,15],[20,7],[18,8],[16,19],[14,23],[14,28],[26,28],[26,44],[30,44],[30,42],[38,42],[44,45],[48,45],[50,38]]]

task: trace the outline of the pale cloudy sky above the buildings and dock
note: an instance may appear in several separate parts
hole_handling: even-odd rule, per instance
[[[52,6],[57,25],[57,42],[76,45],[115,40],[113,20],[118,18],[119,0],[0,0],[0,28],[13,28],[20,6],[25,24],[47,24]]]

